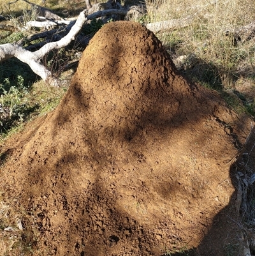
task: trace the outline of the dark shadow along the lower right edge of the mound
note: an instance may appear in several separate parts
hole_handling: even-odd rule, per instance
[[[186,250],[185,252],[181,253],[164,253],[161,256],[171,255],[171,256],[215,256],[215,255],[222,255],[222,252],[218,252],[218,249],[221,247],[224,249],[223,253],[226,256],[230,255],[244,255],[244,252],[247,253],[247,250],[249,250],[249,247],[247,248],[247,243],[250,243],[249,239],[245,237],[245,226],[242,223],[242,218],[240,215],[244,215],[244,218],[246,218],[246,221],[249,222],[249,218],[251,219],[251,211],[253,212],[253,209],[247,209],[247,205],[250,204],[249,200],[254,200],[254,196],[252,195],[252,198],[249,198],[249,196],[246,198],[242,198],[242,203],[240,206],[240,209],[237,206],[237,188],[238,188],[238,180],[237,180],[237,172],[242,172],[244,176],[251,176],[253,172],[249,173],[247,170],[250,169],[250,167],[254,166],[253,159],[255,151],[254,149],[254,137],[255,132],[254,128],[251,131],[253,135],[249,138],[249,140],[246,141],[244,150],[242,151],[242,155],[240,155],[237,158],[237,162],[233,163],[230,167],[230,177],[231,182],[233,183],[233,186],[235,186],[236,190],[235,193],[231,196],[230,203],[228,206],[224,207],[222,211],[220,211],[217,215],[214,216],[213,225],[208,230],[208,233],[205,234],[203,237],[203,241],[201,241],[198,248],[194,248],[191,250]],[[247,155],[251,157],[251,159],[247,160]],[[247,161],[246,161],[247,160]],[[246,163],[244,167],[244,162]],[[242,175],[241,174],[241,175]],[[253,174],[254,175],[254,174]],[[254,188],[251,188],[251,184],[249,184],[250,190],[254,192]],[[248,189],[248,190],[249,190]],[[243,195],[244,196],[244,195]],[[244,202],[244,200],[247,200],[247,202]],[[245,205],[247,203],[247,205]],[[231,215],[230,213],[235,213],[235,215]],[[245,216],[246,215],[246,216]],[[226,243],[226,239],[228,239],[228,243]],[[246,240],[247,239],[247,240]],[[210,245],[211,241],[219,241],[218,247]],[[250,248],[251,253],[253,248]]]

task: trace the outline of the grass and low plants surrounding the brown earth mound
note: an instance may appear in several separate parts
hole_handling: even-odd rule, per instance
[[[130,1],[130,4],[133,2],[135,1]],[[33,3],[41,4],[41,0],[34,0]],[[254,116],[255,32],[243,33],[240,36],[235,33],[255,22],[254,0],[145,0],[145,4],[147,14],[137,22],[147,24],[169,19],[191,20],[187,27],[157,33],[180,72],[194,82],[219,91],[230,108],[239,114],[248,113]],[[78,0],[46,0],[46,5],[62,17],[75,16],[84,8],[84,2]],[[0,6],[10,15],[13,24],[17,24],[17,17],[22,13],[26,19],[33,19],[33,13],[29,16],[23,11],[29,10],[30,6],[22,1],[8,4],[6,0],[0,0]],[[101,23],[98,29],[100,27]],[[89,33],[95,32],[89,30]],[[15,42],[33,33],[34,31],[0,31],[0,44]],[[22,128],[27,121],[52,111],[58,105],[77,66],[76,63],[68,70],[64,68],[80,50],[70,48],[62,52],[52,52],[45,59],[45,64],[66,80],[66,84],[59,88],[52,88],[38,80],[28,66],[16,59],[1,63],[0,143]],[[1,159],[2,157],[0,163]],[[253,192],[252,188],[251,191]],[[249,196],[252,199],[249,209],[254,220],[254,197]],[[18,242],[18,230],[13,231],[12,240],[10,236],[1,234],[1,230],[12,227],[17,222],[17,216],[13,216],[13,220],[10,220],[10,216],[6,218],[8,207],[6,202],[1,201],[0,193],[0,238],[3,238],[3,241],[0,239],[0,255],[31,255],[29,246],[22,249],[22,243]],[[250,222],[247,213],[245,220]],[[233,245],[229,245],[226,248],[226,255],[230,255],[232,247]],[[171,255],[167,250],[164,253]]]

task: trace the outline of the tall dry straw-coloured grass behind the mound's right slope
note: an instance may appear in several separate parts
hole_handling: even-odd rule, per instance
[[[152,0],[147,2],[150,22],[189,17],[192,24],[157,36],[171,56],[186,56],[180,69],[215,89],[234,88],[238,77],[254,79],[254,39],[235,41],[235,31],[255,20],[252,0]]]

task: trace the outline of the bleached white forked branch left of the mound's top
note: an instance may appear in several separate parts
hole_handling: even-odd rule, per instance
[[[64,36],[59,41],[47,43],[43,45],[40,50],[36,50],[36,52],[30,52],[29,50],[25,50],[24,48],[17,45],[17,43],[6,43],[4,45],[0,45],[0,62],[6,59],[10,59],[11,57],[17,57],[20,61],[27,63],[36,75],[39,75],[41,79],[45,82],[48,82],[52,86],[57,86],[59,81],[52,76],[52,73],[45,68],[40,63],[40,59],[44,57],[50,50],[61,49],[68,45],[71,40],[75,39],[75,36],[78,34],[80,29],[85,22],[85,11],[82,11],[78,16],[75,25],[71,27],[69,33]]]

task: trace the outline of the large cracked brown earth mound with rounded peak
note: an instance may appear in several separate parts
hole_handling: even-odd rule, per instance
[[[57,109],[2,147],[0,188],[33,255],[224,255],[242,242],[231,160],[250,125],[145,27],[112,22]]]

